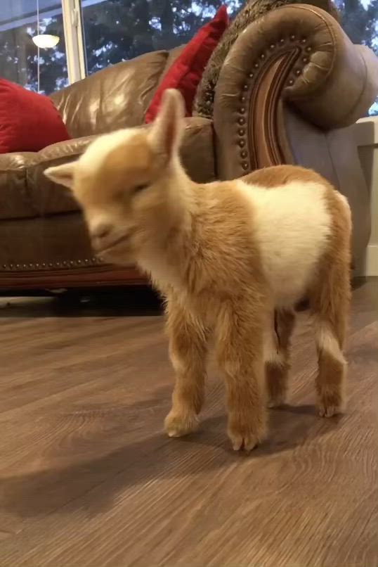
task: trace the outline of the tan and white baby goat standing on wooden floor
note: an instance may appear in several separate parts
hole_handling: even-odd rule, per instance
[[[228,435],[235,450],[248,451],[266,435],[266,405],[285,400],[302,298],[315,317],[320,415],[342,408],[351,213],[325,179],[291,165],[256,171],[248,184],[194,183],[178,154],[183,116],[181,96],[166,91],[150,129],[101,136],[46,175],[72,189],[98,255],[137,262],[167,300],[176,371],[168,435],[197,426],[212,336]]]

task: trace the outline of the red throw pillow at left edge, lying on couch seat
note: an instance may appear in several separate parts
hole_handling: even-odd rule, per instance
[[[0,153],[39,151],[68,139],[67,128],[48,96],[0,79]]]

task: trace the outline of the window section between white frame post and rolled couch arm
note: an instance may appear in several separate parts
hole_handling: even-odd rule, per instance
[[[243,0],[226,0],[232,16]],[[82,0],[87,72],[187,43],[221,1]]]

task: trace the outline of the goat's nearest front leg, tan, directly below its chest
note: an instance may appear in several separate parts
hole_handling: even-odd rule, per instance
[[[245,302],[223,304],[217,350],[226,377],[228,436],[235,451],[252,450],[266,436],[263,321]]]

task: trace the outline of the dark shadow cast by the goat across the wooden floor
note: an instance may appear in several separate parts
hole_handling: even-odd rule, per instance
[[[58,457],[60,450],[60,462],[72,461],[72,458],[76,461],[60,468],[3,478],[0,480],[0,507],[23,518],[43,516],[57,510],[59,514],[72,514],[74,509],[84,509],[87,516],[93,516],[110,509],[117,495],[128,488],[146,485],[157,479],[185,483],[188,482],[188,476],[200,473],[209,474],[211,478],[211,471],[223,469],[226,465],[245,466],[246,461],[251,463],[253,484],[256,475],[260,478],[264,474],[264,459],[272,459],[275,455],[288,452],[289,464],[296,447],[299,450],[302,450],[301,446],[306,447],[308,454],[311,442],[339,427],[339,419],[320,419],[313,406],[287,405],[270,412],[269,439],[261,447],[249,455],[235,453],[230,450],[226,437],[224,414],[204,419],[200,431],[185,438],[168,439],[164,433],[153,433],[159,431],[164,414],[169,409],[169,394],[170,388],[159,388],[157,397],[150,400],[150,407],[156,404],[157,399],[161,400],[162,395],[167,400],[164,401],[165,407],[159,404],[148,428],[143,427],[143,431],[150,431],[150,434],[106,452],[106,448],[112,442],[114,444],[115,438],[110,437],[116,435],[116,432],[107,431],[107,439],[104,440],[103,432],[94,431],[89,450],[92,454],[96,453],[96,458],[91,459],[80,454],[78,447],[64,443],[56,448],[54,457]],[[122,415],[119,407],[115,410],[118,416]],[[125,428],[128,412],[134,410],[141,412],[141,409],[134,407],[122,409]],[[120,426],[122,427],[122,423]],[[96,433],[99,434],[98,439]],[[89,435],[89,432],[84,435],[84,446],[87,449]],[[80,445],[80,440],[77,442]],[[103,454],[98,457],[101,452]],[[46,455],[41,456],[42,459],[44,457]],[[280,478],[273,481],[280,483]]]

